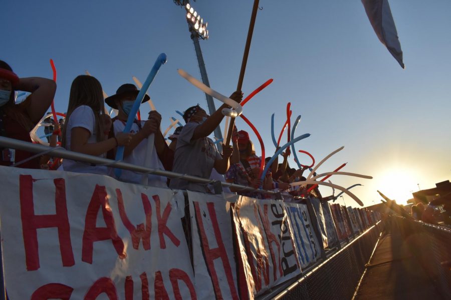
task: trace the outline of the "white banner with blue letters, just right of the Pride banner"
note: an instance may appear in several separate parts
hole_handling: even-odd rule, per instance
[[[307,204],[285,203],[292,232],[298,250],[298,258],[304,268],[321,256],[320,245],[313,231]]]

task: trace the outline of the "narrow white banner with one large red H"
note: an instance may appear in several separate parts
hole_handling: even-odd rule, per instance
[[[199,299],[239,299],[230,202],[188,191],[194,274]]]

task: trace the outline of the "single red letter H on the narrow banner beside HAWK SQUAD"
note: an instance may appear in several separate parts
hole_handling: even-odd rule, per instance
[[[229,288],[232,294],[232,298],[238,299],[237,289],[235,288],[234,277],[232,274],[232,268],[229,263],[229,257],[225,251],[225,246],[222,241],[221,232],[219,230],[219,225],[217,223],[216,211],[214,210],[214,203],[207,202],[208,213],[210,216],[211,224],[213,226],[214,237],[217,243],[217,248],[209,248],[208,239],[205,233],[205,228],[203,227],[202,215],[200,213],[199,202],[193,201],[194,210],[196,214],[197,227],[199,229],[200,243],[203,255],[205,257],[205,262],[207,264],[208,273],[210,274],[211,281],[213,284],[214,293],[217,299],[222,299],[221,290],[219,287],[219,281],[217,278],[216,270],[214,269],[213,260],[216,258],[221,258],[222,266],[224,267],[225,276],[227,277],[227,282],[229,283]]]

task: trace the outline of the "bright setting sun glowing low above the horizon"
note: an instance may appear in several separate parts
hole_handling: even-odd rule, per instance
[[[418,190],[415,170],[410,168],[390,168],[375,177],[377,188],[398,204],[406,204],[412,192]]]

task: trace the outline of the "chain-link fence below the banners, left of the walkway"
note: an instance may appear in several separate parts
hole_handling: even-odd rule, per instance
[[[378,222],[274,298],[351,299],[381,230]]]

